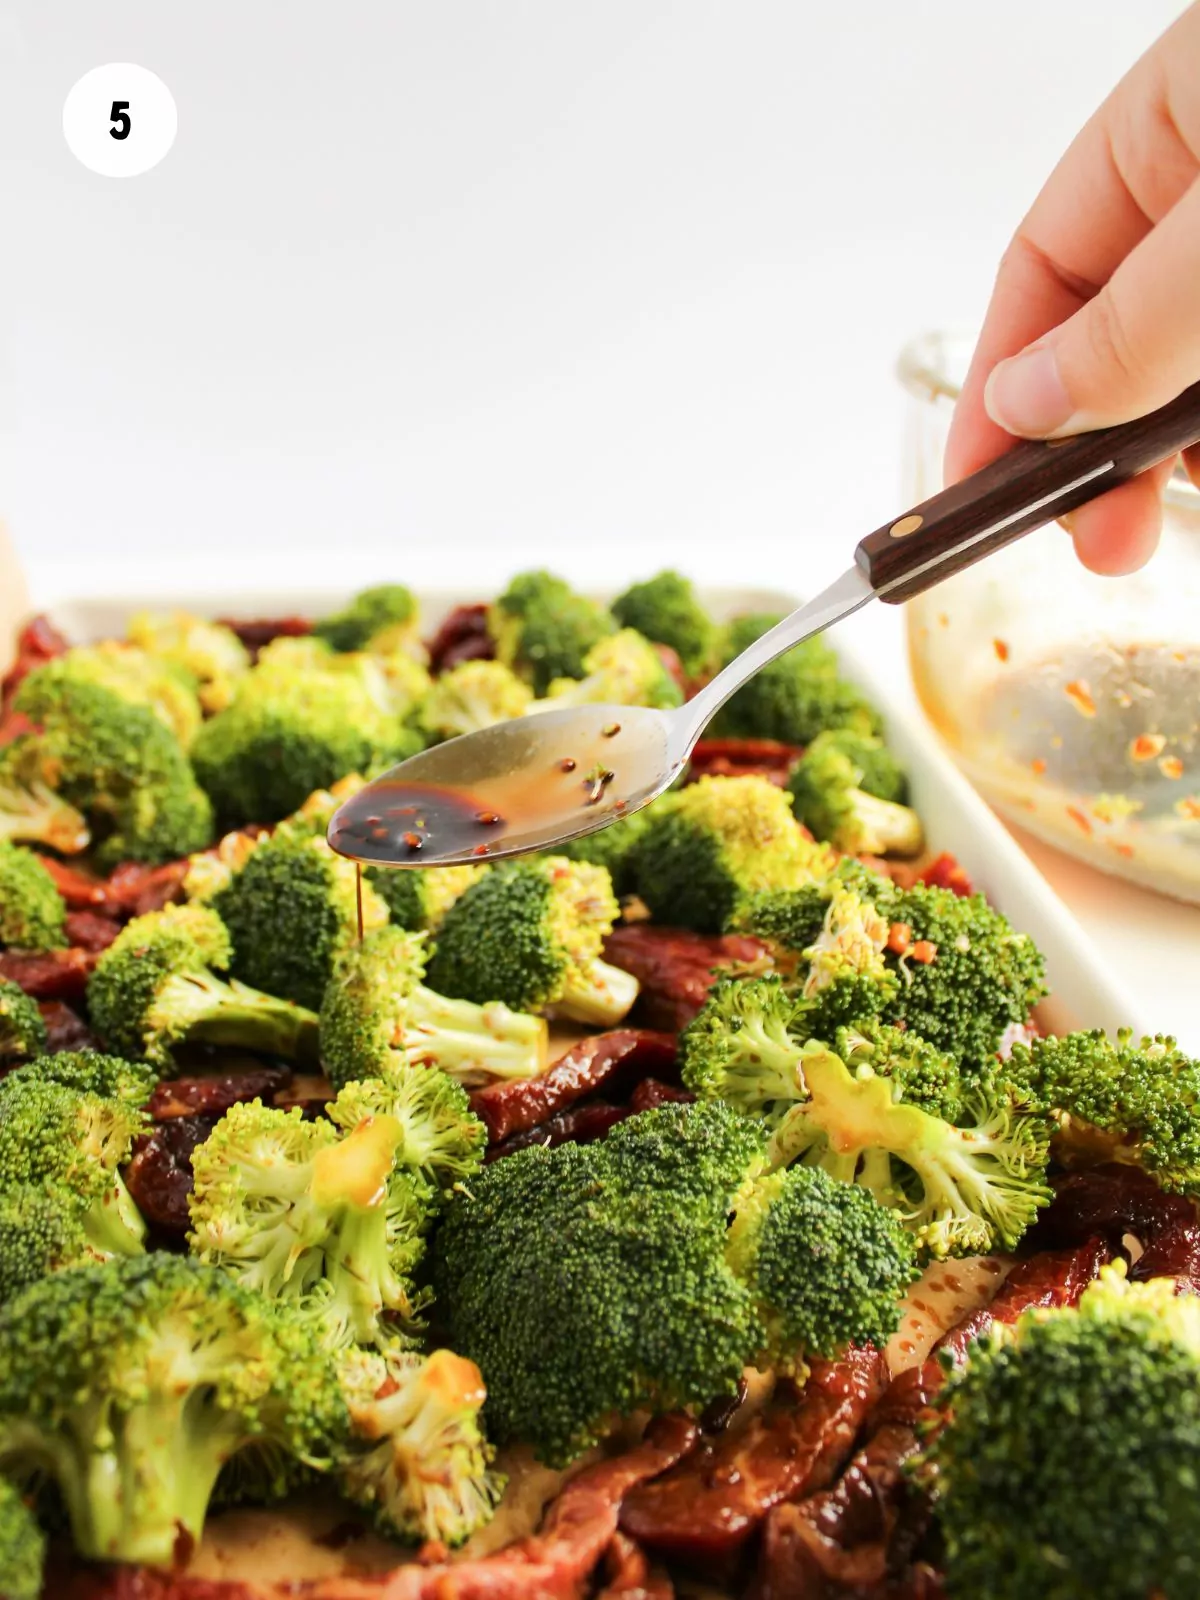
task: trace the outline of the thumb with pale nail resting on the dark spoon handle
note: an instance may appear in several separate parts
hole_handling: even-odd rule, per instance
[[[1200,179],[1061,326],[998,362],[987,414],[1021,438],[1130,422],[1200,378]]]

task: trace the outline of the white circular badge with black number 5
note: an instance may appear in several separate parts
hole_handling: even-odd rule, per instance
[[[163,80],[112,61],[85,72],[62,106],[62,136],[91,173],[136,178],[174,144],[179,114]]]

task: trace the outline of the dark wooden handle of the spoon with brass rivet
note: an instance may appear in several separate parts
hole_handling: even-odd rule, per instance
[[[867,534],[854,560],[880,600],[910,600],[1197,440],[1200,384],[1136,422],[1014,445],[970,478]]]

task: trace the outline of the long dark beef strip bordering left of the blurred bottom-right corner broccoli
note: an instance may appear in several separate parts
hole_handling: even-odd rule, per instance
[[[1112,1248],[1093,1238],[1077,1250],[1018,1262],[990,1306],[973,1310],[942,1334],[920,1366],[894,1378],[870,1418],[866,1443],[838,1482],[768,1518],[754,1600],[886,1595],[928,1525],[928,1507],[904,1469],[946,1379],[942,1358],[962,1362],[990,1326],[1016,1322],[1032,1306],[1074,1306],[1110,1259]]]

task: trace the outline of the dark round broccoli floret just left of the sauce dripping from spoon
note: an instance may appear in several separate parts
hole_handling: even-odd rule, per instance
[[[387,906],[362,886],[363,931]],[[358,938],[357,872],[325,838],[280,829],[213,899],[234,941],[234,973],[254,989],[317,1010],[338,957]]]

